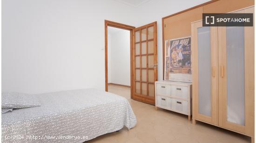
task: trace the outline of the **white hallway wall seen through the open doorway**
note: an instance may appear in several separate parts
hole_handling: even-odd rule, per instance
[[[130,86],[130,31],[108,34],[108,83]]]

